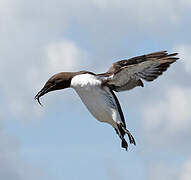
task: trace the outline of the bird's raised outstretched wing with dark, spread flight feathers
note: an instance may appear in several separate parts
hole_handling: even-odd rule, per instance
[[[113,63],[105,76],[107,85],[115,91],[129,90],[136,86],[143,86],[141,79],[153,81],[174,63],[177,53],[168,54],[167,51],[155,52],[143,56]],[[102,74],[104,76],[104,74]]]

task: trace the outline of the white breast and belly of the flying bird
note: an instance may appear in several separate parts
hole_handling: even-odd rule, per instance
[[[101,81],[91,74],[75,76],[71,81],[71,87],[80,96],[90,113],[101,122],[117,127],[121,122],[115,99],[108,87],[101,87]]]

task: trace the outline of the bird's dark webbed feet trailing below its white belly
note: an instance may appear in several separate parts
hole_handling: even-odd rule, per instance
[[[117,127],[118,127],[118,129],[116,130],[116,132],[119,135],[119,137],[121,138],[121,146],[123,148],[125,148],[126,150],[128,148],[128,143],[124,138],[125,134],[128,135],[130,144],[136,145],[134,137],[131,135],[129,130],[127,130],[126,127],[123,126],[123,124],[117,124]]]

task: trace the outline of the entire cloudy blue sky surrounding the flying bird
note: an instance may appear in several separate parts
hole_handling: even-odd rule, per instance
[[[190,180],[190,0],[1,0],[0,179]],[[105,72],[154,51],[179,61],[117,93],[128,152],[72,89],[36,93],[62,71]]]

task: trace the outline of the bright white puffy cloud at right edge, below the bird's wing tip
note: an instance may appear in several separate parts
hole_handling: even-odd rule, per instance
[[[147,129],[164,125],[169,133],[188,130],[191,126],[191,88],[169,88],[156,102],[149,102],[143,108]],[[161,130],[161,131],[163,131]]]

